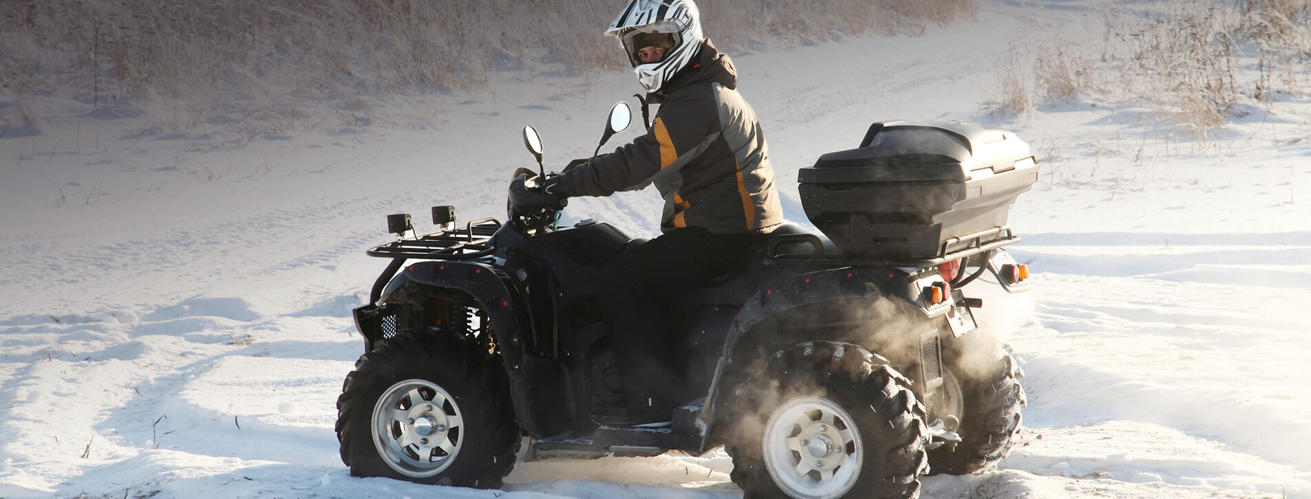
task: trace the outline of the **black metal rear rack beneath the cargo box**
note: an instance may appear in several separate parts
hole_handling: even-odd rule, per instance
[[[785,242],[808,242],[814,249],[813,253],[785,253],[779,254],[779,246]],[[1020,237],[1011,232],[1009,227],[995,227],[973,234],[952,237],[943,241],[937,248],[937,255],[920,259],[869,259],[852,257],[843,253],[823,253],[823,244],[815,234],[781,234],[770,238],[766,253],[766,263],[829,263],[852,267],[936,267],[939,265],[973,257],[979,253],[1020,242]]]

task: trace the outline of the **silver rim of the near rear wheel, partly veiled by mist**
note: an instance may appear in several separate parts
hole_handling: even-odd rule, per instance
[[[775,409],[762,447],[773,483],[797,499],[840,498],[864,464],[855,420],[821,397],[797,397]]]

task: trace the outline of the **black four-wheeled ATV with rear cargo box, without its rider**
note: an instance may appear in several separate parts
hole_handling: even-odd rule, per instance
[[[600,143],[629,122],[620,102]],[[391,263],[354,310],[364,355],[337,399],[351,474],[494,489],[517,458],[724,447],[749,498],[914,498],[922,474],[978,473],[1009,452],[1023,373],[962,289],[983,274],[1029,288],[1003,249],[1019,241],[1009,207],[1037,179],[1013,134],[882,122],[800,169],[826,237],[784,224],[749,268],[666,304],[691,394],[650,424],[597,416],[623,397],[598,275],[644,240],[561,227],[535,128],[524,141],[539,168],[517,172],[505,223],[456,227],[438,206],[439,229],[417,236],[391,215],[397,238],[367,251]]]

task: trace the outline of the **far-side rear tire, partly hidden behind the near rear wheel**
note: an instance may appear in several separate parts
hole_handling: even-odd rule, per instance
[[[1002,342],[988,335],[969,335],[944,348],[956,385],[948,388],[960,419],[954,430],[961,441],[928,452],[932,473],[971,474],[996,465],[1011,453],[1020,434],[1020,409],[1027,403],[1020,380],[1024,372]],[[954,392],[954,393],[953,393]]]

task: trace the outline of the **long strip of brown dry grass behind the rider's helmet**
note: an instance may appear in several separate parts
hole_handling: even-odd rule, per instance
[[[726,50],[974,14],[973,0],[703,1]],[[254,102],[480,88],[497,69],[625,67],[602,37],[621,0],[5,0],[0,84],[97,107],[159,94]],[[290,93],[290,96],[287,94]]]

